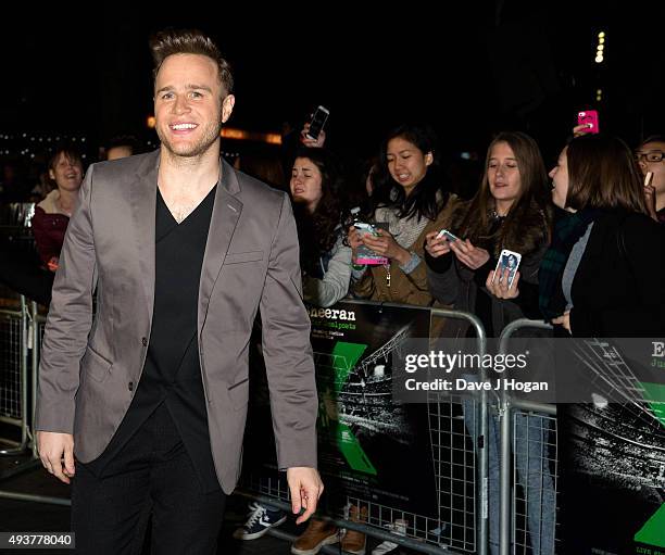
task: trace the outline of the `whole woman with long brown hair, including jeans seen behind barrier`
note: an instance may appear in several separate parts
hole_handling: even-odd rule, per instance
[[[538,316],[538,267],[550,240],[548,175],[536,141],[523,133],[501,133],[487,150],[480,189],[454,211],[449,240],[427,234],[429,287],[435,299],[459,311],[475,313],[488,337],[498,337],[511,321]],[[519,269],[510,260],[522,254]],[[497,264],[506,258],[503,269]],[[495,270],[499,275],[494,275]],[[464,333],[464,328],[453,330]],[[464,421],[479,439],[476,405],[463,402]],[[516,413],[515,466],[526,488],[526,514],[531,553],[554,554],[555,494],[549,467],[549,420],[537,428]],[[490,553],[499,553],[499,421],[489,421],[489,530]],[[474,443],[477,443],[476,441]]]

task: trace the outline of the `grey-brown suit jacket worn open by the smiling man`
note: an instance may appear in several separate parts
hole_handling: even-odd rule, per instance
[[[91,165],[62,249],[36,429],[73,433],[83,463],[109,444],[146,361],[159,160],[158,151]],[[240,472],[248,344],[259,307],[280,468],[316,467],[317,396],[289,199],[225,162],[222,175],[201,269],[198,333],[213,459],[230,493]]]

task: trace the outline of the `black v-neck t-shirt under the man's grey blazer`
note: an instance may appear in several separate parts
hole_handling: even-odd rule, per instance
[[[165,403],[203,489],[219,489],[197,337],[199,283],[215,191],[216,186],[180,224],[156,191],[154,305],[148,355],[125,418],[104,453],[92,463],[99,474]]]

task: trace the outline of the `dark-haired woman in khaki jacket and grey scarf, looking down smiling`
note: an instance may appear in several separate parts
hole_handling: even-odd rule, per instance
[[[426,126],[403,125],[381,144],[372,180],[369,217],[388,225],[378,237],[361,236],[349,228],[349,244],[362,244],[388,258],[388,264],[354,265],[353,291],[374,301],[429,306],[424,257],[425,236],[439,230],[454,204],[439,174],[434,131]],[[354,257],[355,258],[355,257]]]

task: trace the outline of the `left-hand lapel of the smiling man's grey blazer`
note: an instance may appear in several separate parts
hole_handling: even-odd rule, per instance
[[[131,209],[136,228],[136,245],[143,283],[148,321],[152,324],[154,306],[154,227],[160,151],[147,156],[131,187]]]

